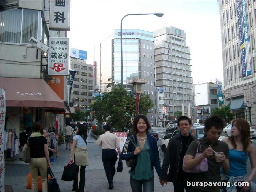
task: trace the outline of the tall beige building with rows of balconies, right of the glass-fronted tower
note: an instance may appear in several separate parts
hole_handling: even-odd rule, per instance
[[[175,119],[175,112],[184,111],[193,116],[190,49],[186,45],[186,33],[176,27],[163,27],[155,35],[155,78],[157,87],[157,120],[160,125],[167,109],[167,119]],[[178,86],[180,85],[180,86]],[[161,89],[158,89],[161,88]],[[192,109],[192,110],[191,110]]]

